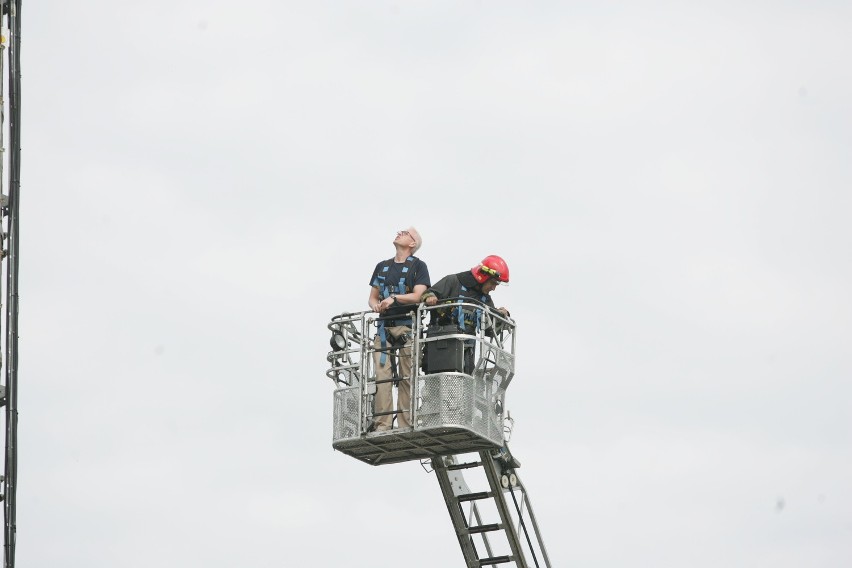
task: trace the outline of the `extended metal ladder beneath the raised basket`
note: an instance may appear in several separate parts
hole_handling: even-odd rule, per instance
[[[432,458],[466,566],[550,568],[532,504],[515,471],[519,464],[508,452],[496,453]],[[465,471],[479,474],[479,486],[471,489]]]

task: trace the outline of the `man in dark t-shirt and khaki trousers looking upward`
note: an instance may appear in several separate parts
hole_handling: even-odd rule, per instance
[[[376,265],[370,277],[370,309],[381,316],[373,341],[376,369],[376,396],[372,428],[384,432],[393,427],[393,362],[398,362],[399,392],[397,426],[408,428],[411,406],[411,328],[410,312],[417,311],[420,296],[429,288],[429,269],[414,256],[423,244],[414,227],[397,231],[396,254]],[[384,381],[384,382],[383,382]],[[382,414],[388,413],[388,414]]]

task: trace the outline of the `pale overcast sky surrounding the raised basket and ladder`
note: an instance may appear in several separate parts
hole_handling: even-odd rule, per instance
[[[852,5],[25,2],[18,564],[462,566],[331,446],[416,226],[518,322],[554,566],[852,565]]]

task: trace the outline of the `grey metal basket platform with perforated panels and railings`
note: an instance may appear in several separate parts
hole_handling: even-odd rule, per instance
[[[453,341],[478,343],[476,363],[470,374],[412,373],[413,405],[409,411],[413,426],[372,432],[369,425],[375,393],[371,370],[373,344],[364,339],[371,337],[371,320],[362,314],[347,314],[347,318],[352,326],[337,323],[334,327],[333,322],[330,327],[335,333],[346,334],[337,355],[329,354],[335,365],[329,376],[347,379],[336,381],[338,388],[334,391],[332,447],[335,450],[371,465],[382,465],[502,446],[504,397],[514,376],[513,341],[500,343],[482,334],[476,337],[451,334]],[[360,331],[356,334],[347,332],[348,329]],[[511,338],[514,327],[507,329]],[[420,333],[414,336],[413,351],[419,360],[422,347],[430,339],[424,339]]]

